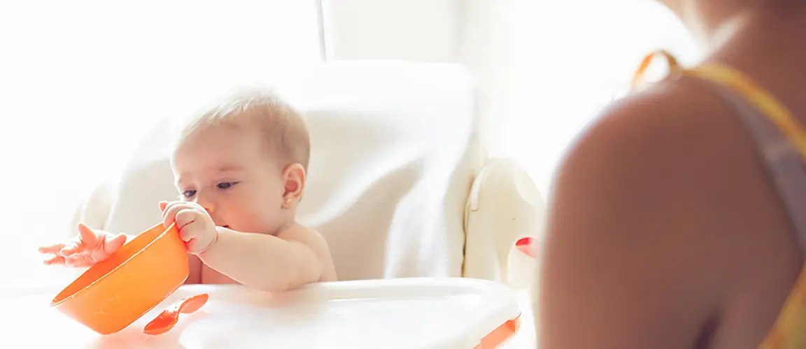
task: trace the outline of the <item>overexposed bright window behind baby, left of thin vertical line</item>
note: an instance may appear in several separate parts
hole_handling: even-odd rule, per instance
[[[33,277],[36,245],[68,237],[77,199],[127,161],[156,118],[318,62],[314,3],[0,3],[3,282]]]

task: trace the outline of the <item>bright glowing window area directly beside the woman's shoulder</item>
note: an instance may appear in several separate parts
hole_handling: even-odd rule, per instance
[[[643,55],[659,48],[683,63],[697,47],[670,11],[650,0],[513,2],[505,154],[550,191],[569,143],[629,87]]]

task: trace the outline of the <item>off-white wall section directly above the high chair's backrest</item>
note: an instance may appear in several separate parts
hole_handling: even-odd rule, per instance
[[[329,60],[464,64],[479,90],[481,138],[501,148],[507,112],[505,35],[513,0],[322,0]]]

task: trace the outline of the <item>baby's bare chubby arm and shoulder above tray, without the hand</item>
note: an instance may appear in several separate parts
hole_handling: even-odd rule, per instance
[[[283,291],[322,279],[326,241],[304,227],[278,236],[216,227],[218,239],[198,257],[233,280],[265,291]],[[324,253],[323,253],[324,252]]]

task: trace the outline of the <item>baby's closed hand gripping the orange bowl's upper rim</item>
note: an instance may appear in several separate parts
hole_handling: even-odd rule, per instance
[[[215,230],[213,218],[201,205],[185,201],[161,201],[160,210],[165,227],[177,224],[179,236],[185,240],[189,253],[203,253],[217,240],[218,231]]]

